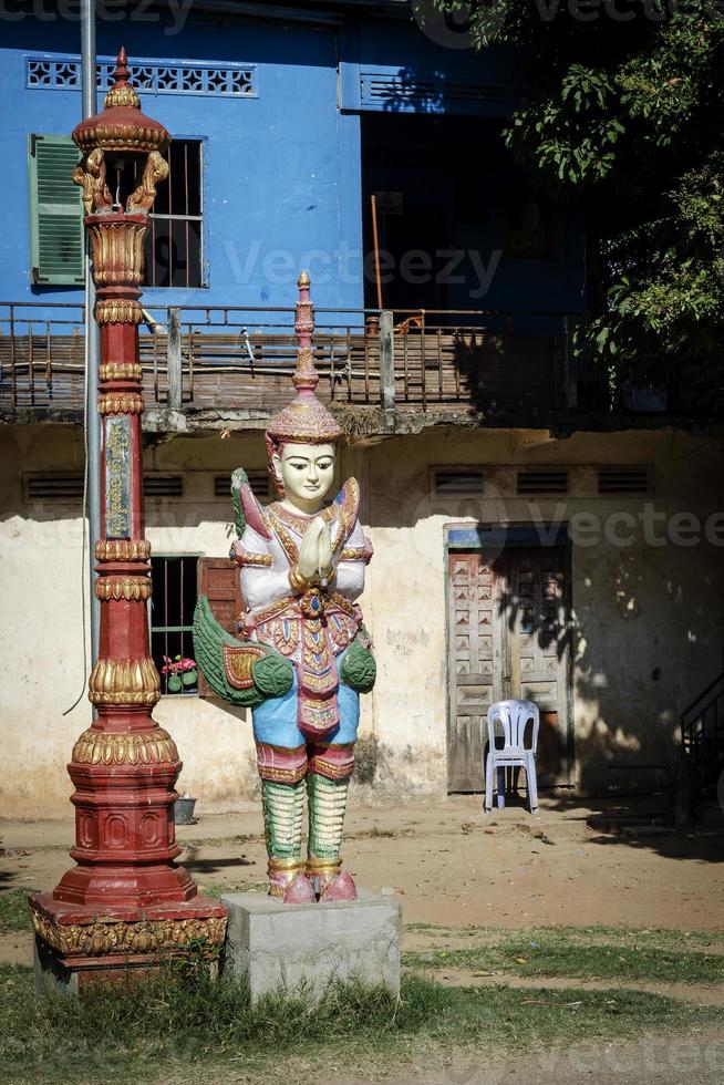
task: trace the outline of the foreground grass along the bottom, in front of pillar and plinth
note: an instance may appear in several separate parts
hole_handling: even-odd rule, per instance
[[[534,1000],[534,1001],[531,1001]],[[536,1001],[537,1000],[537,1001]],[[683,1033],[724,1015],[632,991],[442,988],[406,975],[385,988],[335,983],[251,1003],[246,989],[178,968],[126,991],[81,998],[32,993],[32,972],[0,967],[4,1082],[177,1083],[302,1081],[334,1071],[370,1078],[403,1065],[442,1065],[464,1048],[540,1051],[648,1032]],[[218,1078],[217,1078],[218,1075]]]

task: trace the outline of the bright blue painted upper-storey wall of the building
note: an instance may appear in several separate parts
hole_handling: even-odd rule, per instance
[[[507,83],[487,112],[509,108],[515,65],[492,52],[473,54],[435,45],[412,24],[387,21],[334,28],[309,24],[229,24],[189,20],[176,35],[124,21],[99,23],[99,55],[114,55],[123,43],[134,56],[256,65],[258,96],[231,99],[142,92],[143,108],[176,137],[205,141],[204,244],[207,286],[197,290],[146,289],[157,304],[289,306],[298,270],[310,268],[318,307],[363,304],[363,195],[360,73],[404,74],[405,79],[485,80]],[[28,134],[70,133],[80,118],[80,91],[25,86],[24,61],[42,53],[79,52],[76,23],[62,20],[4,23],[0,43],[0,130],[3,207],[0,220],[1,300],[76,301],[73,288],[34,287],[30,280],[28,226]],[[339,79],[338,79],[339,75]],[[495,96],[495,95],[494,95]],[[430,103],[405,103],[402,112],[431,111]],[[391,110],[390,112],[395,112]],[[435,112],[433,108],[432,112]],[[439,112],[439,108],[437,108]],[[458,111],[459,112],[459,111]],[[464,112],[464,111],[463,111]],[[394,120],[394,118],[391,118]],[[470,124],[479,123],[470,117]],[[434,148],[433,148],[434,153]],[[505,189],[511,164],[503,152],[490,157],[492,189]],[[392,176],[389,183],[394,186]],[[9,211],[8,211],[9,209]],[[576,309],[582,304],[582,228],[570,208],[555,266],[515,261],[494,281],[484,300],[449,304],[472,308]],[[490,248],[495,223],[453,240]],[[459,234],[459,231],[458,231]],[[484,259],[487,260],[484,252]]]

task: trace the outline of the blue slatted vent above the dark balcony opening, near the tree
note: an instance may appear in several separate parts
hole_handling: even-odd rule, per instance
[[[362,107],[415,113],[490,113],[507,102],[500,83],[453,81],[438,75],[361,72]],[[495,107],[495,110],[493,108]]]

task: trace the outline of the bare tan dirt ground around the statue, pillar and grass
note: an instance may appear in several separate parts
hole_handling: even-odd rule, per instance
[[[535,816],[515,803],[486,816],[480,796],[377,807],[359,805],[353,796],[344,857],[358,885],[400,895],[406,924],[404,948],[408,950],[423,949],[439,937],[421,924],[724,929],[721,815],[715,812],[715,820],[678,830],[670,813],[664,796],[601,803],[547,797]],[[260,810],[204,815],[201,809],[199,815],[196,825],[177,827],[184,848],[180,861],[199,887],[261,890],[266,852]],[[71,865],[68,850],[72,841],[70,818],[0,819],[0,893],[51,889]],[[466,939],[462,931],[444,937],[446,948]],[[31,954],[29,933],[0,934],[0,961],[30,963]],[[504,983],[535,989],[535,998],[544,990],[555,992],[571,984],[579,990],[607,991],[618,985],[610,980],[525,979],[463,969],[437,970],[433,976],[444,984]],[[724,1004],[720,984],[639,981],[624,985],[702,1005]],[[718,1030],[628,1044],[566,1044],[535,1056],[490,1057],[453,1051],[442,1065],[425,1072],[417,1067],[394,1076],[391,1083],[537,1081],[552,1085],[562,1074],[571,1085],[619,1085],[632,1079],[641,1085],[678,1085],[684,1077],[714,1085],[722,1079],[723,1053],[724,1035]],[[234,1079],[227,1067],[224,1081]],[[341,1079],[334,1076],[334,1081]],[[349,1078],[345,1085],[361,1085],[361,1079]]]

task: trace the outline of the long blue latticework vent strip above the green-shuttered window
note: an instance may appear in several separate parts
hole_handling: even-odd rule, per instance
[[[97,64],[102,91],[113,84],[115,61]],[[128,64],[131,81],[137,91],[153,94],[214,94],[227,97],[256,97],[255,64],[172,63],[144,60]],[[80,91],[81,61],[77,56],[25,58],[25,86],[53,91]]]

